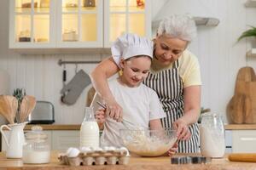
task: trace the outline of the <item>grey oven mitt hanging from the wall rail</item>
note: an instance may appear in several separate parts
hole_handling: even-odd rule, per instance
[[[90,77],[83,70],[80,70],[73,79],[61,89],[61,101],[66,105],[73,105],[79,99],[84,88],[90,84]]]

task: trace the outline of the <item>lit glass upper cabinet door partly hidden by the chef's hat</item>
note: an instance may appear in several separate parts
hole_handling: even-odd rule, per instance
[[[150,0],[105,0],[104,1],[104,47],[123,33],[136,33],[151,37]]]

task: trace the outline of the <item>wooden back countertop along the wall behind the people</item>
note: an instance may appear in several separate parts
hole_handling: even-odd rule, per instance
[[[25,130],[30,130],[34,125],[26,125]],[[42,124],[44,130],[80,130],[80,124]],[[256,124],[227,124],[226,130],[256,130]]]

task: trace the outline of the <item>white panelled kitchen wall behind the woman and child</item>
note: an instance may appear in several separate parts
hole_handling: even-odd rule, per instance
[[[153,2],[156,1],[153,0]],[[198,37],[190,44],[189,49],[198,56],[201,64],[202,106],[223,114],[225,118],[226,105],[234,93],[237,71],[246,65],[253,66],[254,69],[256,67],[256,59],[246,58],[245,55],[247,49],[251,48],[251,44],[255,45],[254,40],[247,39],[247,41],[242,40],[236,43],[237,37],[247,28],[247,25],[256,26],[256,8],[245,8],[246,0],[179,0],[179,2],[187,5],[183,8],[184,10],[188,10],[189,7],[194,9],[191,10],[192,12],[207,11],[220,20],[217,27],[199,27]],[[153,4],[153,7],[155,5],[157,3]],[[154,8],[154,14],[157,13],[157,9]],[[36,96],[38,100],[52,102],[55,105],[57,123],[82,122],[88,88],[84,90],[75,105],[61,105],[62,67],[57,65],[57,61],[58,59],[98,60],[107,54],[16,54],[8,48],[8,14],[9,0],[1,0],[0,69],[5,69],[10,74],[10,91],[14,88],[26,88],[27,94]],[[94,67],[95,65],[79,65],[79,69],[84,69],[87,73],[90,73]],[[67,65],[67,82],[73,77],[74,69],[74,65]]]

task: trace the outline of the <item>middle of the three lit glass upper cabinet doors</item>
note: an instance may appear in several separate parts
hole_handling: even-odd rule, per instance
[[[57,48],[102,48],[102,1],[57,1]]]

